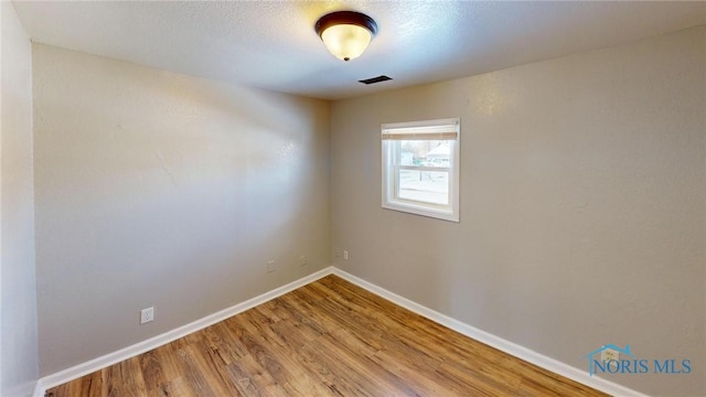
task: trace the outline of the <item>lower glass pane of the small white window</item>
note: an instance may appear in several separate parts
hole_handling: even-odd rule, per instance
[[[399,170],[397,197],[432,204],[449,204],[449,173]]]

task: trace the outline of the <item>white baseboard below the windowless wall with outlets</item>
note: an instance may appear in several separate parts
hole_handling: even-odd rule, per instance
[[[213,325],[220,321],[228,319],[235,314],[242,313],[248,309],[253,309],[258,304],[263,304],[267,301],[270,301],[277,297],[280,297],[287,292],[291,292],[300,287],[303,287],[310,282],[313,282],[322,277],[329,276],[333,272],[333,267],[328,267],[325,269],[321,269],[314,273],[302,277],[299,280],[292,281],[286,286],[276,288],[269,292],[265,292],[258,297],[253,299],[248,299],[245,302],[235,304],[231,308],[224,309],[220,312],[206,315],[203,319],[196,320],[186,325],[180,326],[172,331],[168,331],[161,335],[157,335],[147,341],[142,341],[136,343],[131,346],[121,348],[117,352],[113,352],[106,354],[104,356],[94,358],[89,362],[78,364],[74,367],[57,372],[52,375],[47,375],[38,380],[36,386],[34,388],[33,397],[44,397],[44,394],[47,389],[63,385],[73,379],[79,378],[82,376],[88,375],[96,371],[103,369],[113,364],[119,363],[121,361],[128,360],[136,355],[142,354],[145,352],[149,352],[153,348],[162,346],[169,342],[175,341],[180,337],[184,337],[191,333],[194,333],[199,330],[203,330],[206,326]]]

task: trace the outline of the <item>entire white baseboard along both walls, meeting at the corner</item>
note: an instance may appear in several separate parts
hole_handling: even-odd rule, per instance
[[[345,279],[361,288],[364,288],[382,298],[389,300],[407,310],[410,310],[419,315],[422,315],[436,323],[445,325],[453,331],[457,331],[466,336],[472,337],[479,342],[482,342],[489,346],[495,347],[502,352],[511,354],[517,358],[524,360],[528,363],[532,363],[538,367],[550,371],[555,374],[559,374],[569,379],[576,380],[595,389],[601,390],[603,393],[608,393],[612,396],[634,396],[634,397],[648,397],[646,395],[627,388],[624,386],[618,385],[613,382],[602,379],[598,376],[589,376],[588,372],[585,369],[579,369],[568,364],[561,363],[557,360],[547,357],[537,352],[534,352],[530,348],[521,346],[518,344],[506,341],[500,336],[495,336],[485,331],[481,331],[477,328],[468,325],[461,321],[452,319],[446,314],[441,314],[435,310],[431,310],[427,307],[418,304],[416,302],[410,301],[407,298],[403,298],[394,292],[391,292],[382,287],[378,287],[372,282],[367,282],[359,277],[355,277],[346,271],[334,267],[328,267],[325,269],[319,270],[312,275],[303,277],[299,280],[290,282],[286,286],[276,288],[269,292],[263,293],[258,297],[249,299],[245,302],[235,304],[228,309],[224,309],[217,313],[213,313],[207,315],[201,320],[196,320],[190,324],[180,326],[175,330],[165,332],[161,335],[154,336],[147,341],[142,341],[140,343],[133,344],[131,346],[125,347],[117,352],[106,354],[101,357],[94,358],[89,362],[76,365],[74,367],[61,371],[58,373],[45,376],[38,380],[36,387],[34,388],[33,397],[44,397],[44,393],[46,389],[65,384],[73,379],[79,378],[84,375],[88,375],[113,364],[119,363],[127,358],[133,357],[136,355],[142,354],[145,352],[149,352],[153,348],[157,348],[161,345],[164,345],[169,342],[178,340],[180,337],[186,336],[193,332],[202,330],[206,326],[213,325],[220,321],[223,321],[227,318],[231,318],[235,314],[244,312],[248,309],[252,309],[258,304],[263,304],[269,300],[272,300],[277,297],[280,297],[287,292],[291,292],[297,288],[303,287],[310,282],[313,282],[322,277],[329,275],[336,275],[342,279]]]

